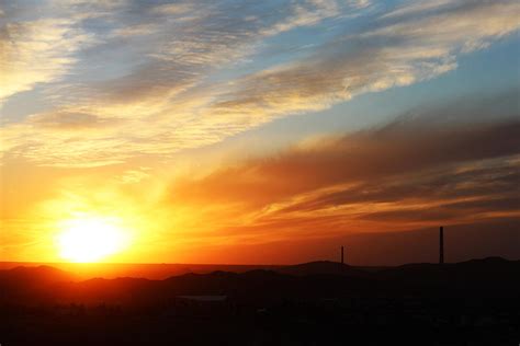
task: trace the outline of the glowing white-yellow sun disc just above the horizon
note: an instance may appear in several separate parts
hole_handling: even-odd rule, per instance
[[[98,262],[120,252],[127,234],[116,219],[88,217],[63,222],[57,239],[60,256],[70,262]]]

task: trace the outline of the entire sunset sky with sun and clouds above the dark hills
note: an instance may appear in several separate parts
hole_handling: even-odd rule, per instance
[[[0,261],[520,258],[519,16],[0,0]]]

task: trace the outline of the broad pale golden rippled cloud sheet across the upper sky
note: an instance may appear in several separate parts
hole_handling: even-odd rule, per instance
[[[434,78],[519,25],[517,1],[410,2],[386,14],[366,1],[63,8],[13,16],[0,37],[0,97],[38,84],[50,104],[2,125],[1,150],[41,165],[97,166],[212,145]],[[354,15],[363,25],[352,26]],[[323,23],[334,28],[329,38],[264,64],[271,39]]]

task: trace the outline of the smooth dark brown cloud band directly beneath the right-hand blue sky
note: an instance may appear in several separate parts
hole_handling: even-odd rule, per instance
[[[270,201],[272,198],[339,184],[368,184],[374,180],[388,182],[394,176],[399,182],[409,180],[410,185],[396,186],[391,183],[389,194],[409,195],[426,188],[418,187],[419,182],[414,182],[419,173],[427,174],[428,170],[442,166],[520,153],[518,120],[455,128],[408,127],[393,126],[348,135],[317,143],[310,149],[294,149],[274,158],[251,160],[217,171],[200,181],[182,182],[176,194],[185,194],[188,199],[210,196],[217,200]],[[460,174],[461,178],[468,178],[468,173]],[[441,185],[441,178],[453,180],[446,173],[443,175],[427,183]],[[422,176],[420,178],[425,180]],[[484,180],[485,175],[481,174],[479,178]],[[449,183],[443,184],[445,186]],[[355,189],[358,194],[354,194]],[[375,198],[374,194],[381,196],[374,186],[358,186],[350,192],[358,196],[365,195],[360,198]],[[332,199],[335,197],[338,198],[338,195],[329,196]]]

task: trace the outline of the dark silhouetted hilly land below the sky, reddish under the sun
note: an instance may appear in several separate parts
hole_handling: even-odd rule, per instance
[[[313,262],[163,280],[0,272],[5,345],[517,345],[520,261]],[[348,342],[347,342],[348,341]]]

